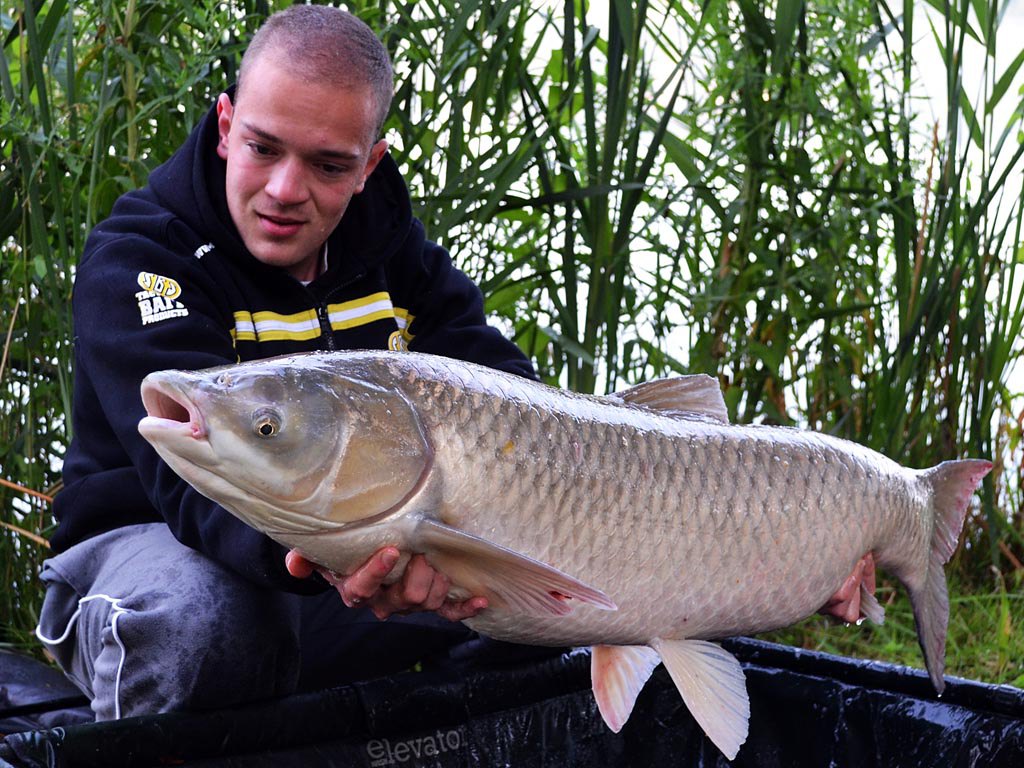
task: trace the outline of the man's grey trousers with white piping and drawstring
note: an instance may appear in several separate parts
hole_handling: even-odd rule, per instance
[[[258,588],[162,523],[47,560],[36,635],[97,720],[229,707],[444,657],[474,635],[432,613],[378,621],[334,590]]]

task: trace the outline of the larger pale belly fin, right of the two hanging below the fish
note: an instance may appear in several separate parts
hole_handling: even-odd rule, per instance
[[[739,662],[703,640],[654,640],[672,681],[708,738],[729,760],[746,740],[751,702]]]

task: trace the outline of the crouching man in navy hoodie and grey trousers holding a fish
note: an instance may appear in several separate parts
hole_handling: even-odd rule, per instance
[[[309,578],[310,563],[197,494],[136,429],[141,379],[168,368],[409,347],[534,375],[413,217],[379,139],[391,92],[387,54],[356,18],[282,11],[236,90],[86,244],[75,438],[37,635],[97,719],[401,670],[468,639],[456,622],[486,605],[449,600],[422,556],[383,586],[394,548],[347,577]]]

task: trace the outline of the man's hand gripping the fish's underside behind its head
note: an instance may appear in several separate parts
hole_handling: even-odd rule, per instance
[[[384,580],[398,562],[398,557],[397,549],[384,547],[354,571],[342,575],[314,565],[292,550],[285,556],[285,565],[288,572],[298,579],[307,579],[314,570],[319,571],[338,590],[345,605],[350,608],[366,606],[381,620],[393,613],[432,610],[452,622],[461,622],[472,618],[487,607],[485,597],[449,600],[447,592],[452,585],[447,577],[434,570],[423,555],[414,555],[401,578],[394,584],[385,585]]]

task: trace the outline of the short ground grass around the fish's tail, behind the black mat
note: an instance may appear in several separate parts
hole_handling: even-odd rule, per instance
[[[1024,687],[1024,573],[988,592],[969,592],[949,585],[949,632],[946,638],[946,675]],[[906,591],[894,582],[880,583],[879,601],[885,606],[882,626],[863,622],[844,626],[825,616],[812,616],[760,639],[854,658],[876,659],[924,669],[913,613]]]

